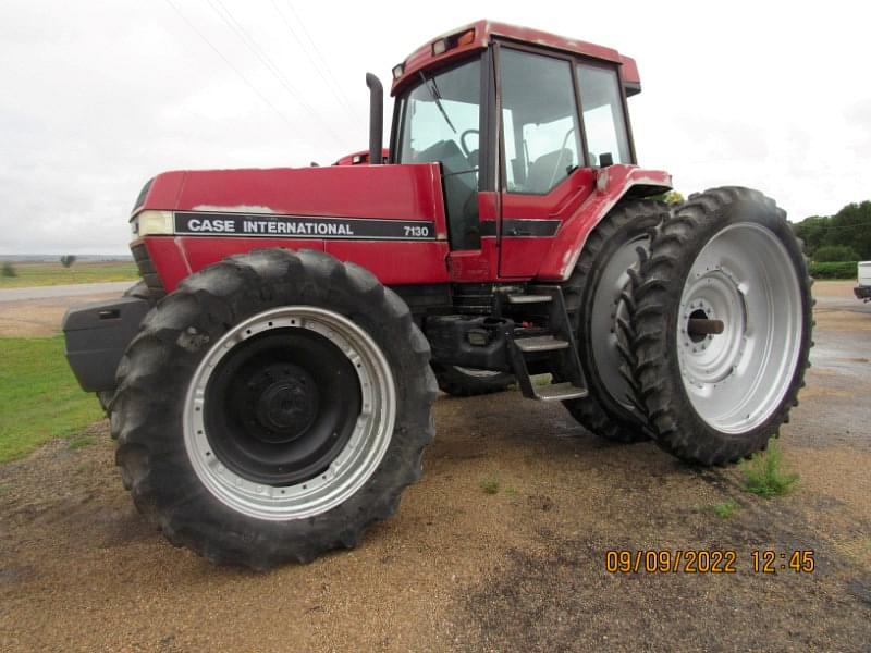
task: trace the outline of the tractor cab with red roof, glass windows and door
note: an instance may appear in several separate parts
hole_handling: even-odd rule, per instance
[[[559,218],[567,195],[591,188],[591,170],[636,162],[626,111],[626,95],[640,90],[635,62],[529,33],[479,22],[393,69],[390,162],[440,163],[453,251],[481,249],[488,236],[552,236],[560,225],[532,222],[536,211]],[[501,275],[528,272],[512,247],[503,254]]]

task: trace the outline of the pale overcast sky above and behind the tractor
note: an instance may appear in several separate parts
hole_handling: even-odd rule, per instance
[[[831,214],[871,199],[862,7],[2,0],[0,254],[127,251],[132,204],[163,170],[365,149],[364,74],[389,87],[410,51],[480,17],[634,57],[639,162],[684,194],[741,184],[792,220]]]

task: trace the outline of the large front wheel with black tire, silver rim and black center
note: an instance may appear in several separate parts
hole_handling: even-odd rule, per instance
[[[353,547],[433,435],[407,306],[322,252],[259,250],[186,279],[119,368],[116,460],[175,544],[262,569]]]

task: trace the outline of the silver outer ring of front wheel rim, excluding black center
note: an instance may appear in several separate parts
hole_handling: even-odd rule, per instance
[[[274,329],[307,329],[329,340],[354,366],[361,393],[360,415],[338,457],[328,469],[292,485],[254,482],[228,469],[209,444],[204,424],[206,387],[216,366],[240,343]],[[393,374],[376,342],[343,316],[311,306],[289,306],[245,320],[209,349],[188,386],[184,443],[200,482],[225,506],[258,519],[303,519],[344,503],[366,483],[390,445],[395,417]]]

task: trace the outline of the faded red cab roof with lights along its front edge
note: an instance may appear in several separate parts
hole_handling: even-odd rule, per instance
[[[572,54],[616,63],[621,66],[626,95],[635,95],[641,91],[641,79],[638,75],[638,66],[635,63],[635,59],[621,54],[613,48],[597,46],[596,44],[557,36],[548,32],[539,32],[529,27],[481,20],[442,34],[406,57],[402,63],[393,69],[391,95],[395,96],[409,81],[416,78],[418,71],[439,67],[469,52],[488,48],[494,38],[543,46]],[[436,54],[434,46],[439,41],[444,41],[446,47],[443,52]],[[451,45],[452,42],[454,45]]]

